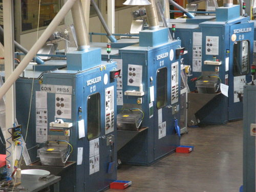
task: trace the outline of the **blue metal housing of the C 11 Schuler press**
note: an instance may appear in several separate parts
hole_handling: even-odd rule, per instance
[[[141,40],[141,39],[140,39]],[[173,152],[180,145],[180,138],[175,131],[175,118],[179,119],[179,113],[173,115],[172,111],[177,103],[171,103],[172,99],[172,63],[178,62],[178,74],[180,74],[180,58],[170,60],[169,53],[180,47],[180,41],[167,41],[165,44],[156,47],[131,46],[120,49],[122,58],[123,76],[123,108],[139,108],[144,112],[142,127],[147,130],[137,135],[126,144],[119,152],[121,161],[136,165],[150,165],[164,155]],[[164,56],[157,59],[157,56]],[[167,54],[167,55],[166,55]],[[139,91],[139,87],[128,85],[129,65],[142,66],[142,84],[144,95],[142,104],[137,104],[138,96],[124,95],[127,90]],[[157,73],[160,69],[167,69],[167,102],[164,107],[157,109]],[[160,78],[160,77],[158,77]],[[179,75],[180,82],[180,75]],[[153,117],[150,117],[150,87],[154,86]],[[178,88],[177,88],[178,89]],[[180,86],[179,86],[180,93]],[[173,108],[170,107],[172,104]],[[161,111],[161,114],[160,114]],[[162,120],[159,119],[162,116]],[[166,121],[166,136],[159,139],[159,123]]]

